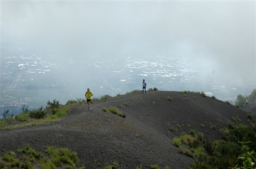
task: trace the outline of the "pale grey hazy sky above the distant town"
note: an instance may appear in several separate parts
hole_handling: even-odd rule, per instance
[[[2,46],[178,49],[213,72],[255,79],[255,1],[1,1]]]

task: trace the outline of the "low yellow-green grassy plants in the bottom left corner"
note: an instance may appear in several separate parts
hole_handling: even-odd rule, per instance
[[[38,153],[30,145],[18,149],[22,158],[17,158],[13,151],[9,151],[0,157],[0,168],[75,168],[78,162],[76,152],[71,152],[67,148],[53,148],[45,146],[45,152],[48,156]],[[79,167],[85,168],[84,166]]]

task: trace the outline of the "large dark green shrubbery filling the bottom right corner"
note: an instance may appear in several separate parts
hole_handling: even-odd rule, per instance
[[[228,124],[228,128],[220,130],[227,141],[211,142],[204,139],[203,133],[191,131],[173,139],[174,145],[180,147],[179,153],[195,159],[189,168],[255,168],[256,126]],[[187,147],[181,147],[181,143]]]

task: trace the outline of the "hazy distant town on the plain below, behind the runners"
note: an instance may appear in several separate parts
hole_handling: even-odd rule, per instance
[[[30,109],[45,106],[51,99],[65,104],[68,99],[83,98],[87,88],[95,97],[115,96],[141,89],[142,79],[148,88],[159,90],[204,91],[221,100],[235,99],[241,92],[250,92],[253,85],[230,83],[233,77],[200,79],[204,72],[182,52],[158,54],[123,51],[113,56],[87,54],[83,57],[61,57],[54,51],[21,47],[2,47],[1,114],[9,109],[18,114],[23,105]]]

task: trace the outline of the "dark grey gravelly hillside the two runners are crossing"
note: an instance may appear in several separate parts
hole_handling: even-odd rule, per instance
[[[102,111],[110,106],[126,117]],[[247,112],[240,108],[190,92],[134,92],[97,100],[90,110],[87,104],[70,108],[68,115],[55,123],[1,130],[0,155],[26,145],[43,153],[43,146],[48,145],[76,151],[77,166],[86,168],[104,168],[114,160],[119,162],[118,168],[150,168],[152,164],[188,168],[194,160],[178,153],[174,137],[193,129],[207,139],[221,139],[220,129],[228,123],[239,125],[231,117],[238,116],[240,123],[249,124]]]

